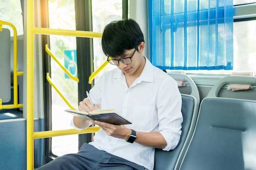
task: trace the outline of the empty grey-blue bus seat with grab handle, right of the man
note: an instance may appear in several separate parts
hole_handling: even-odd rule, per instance
[[[180,170],[256,170],[256,101],[217,97],[225,84],[254,85],[256,78],[227,76],[211,89]]]

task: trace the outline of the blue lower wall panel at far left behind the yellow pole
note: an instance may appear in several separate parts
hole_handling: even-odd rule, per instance
[[[34,130],[40,130],[43,120],[34,120]],[[27,170],[26,119],[0,120],[0,170]],[[40,130],[41,131],[41,130]],[[34,140],[34,167],[41,166],[41,146],[44,139]]]

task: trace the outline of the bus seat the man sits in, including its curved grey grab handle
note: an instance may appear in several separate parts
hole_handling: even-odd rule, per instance
[[[168,73],[176,80],[182,80],[191,84],[193,95],[182,94],[182,135],[180,142],[174,150],[164,151],[162,149],[155,149],[155,166],[154,170],[174,170],[179,167],[182,155],[188,146],[184,145],[185,141],[190,141],[195,127],[195,122],[198,115],[199,108],[199,92],[193,80],[187,75],[180,73]]]

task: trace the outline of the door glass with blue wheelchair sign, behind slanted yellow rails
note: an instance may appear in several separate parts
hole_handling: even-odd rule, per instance
[[[74,0],[49,0],[49,28],[76,30]],[[50,49],[72,74],[77,73],[76,38],[50,35]],[[77,76],[77,74],[75,75]],[[51,78],[71,105],[78,107],[77,82],[65,75],[58,64],[51,59]],[[68,129],[72,115],[64,113],[67,104],[52,87],[52,130]],[[57,156],[78,151],[78,135],[52,138],[52,153]]]

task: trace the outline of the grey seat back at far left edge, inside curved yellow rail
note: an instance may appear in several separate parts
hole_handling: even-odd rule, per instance
[[[2,102],[11,100],[11,37],[9,29],[0,31],[0,98]]]

